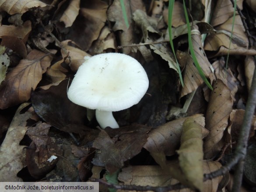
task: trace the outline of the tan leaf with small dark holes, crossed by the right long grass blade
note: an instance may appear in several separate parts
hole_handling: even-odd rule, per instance
[[[211,70],[210,70],[210,62],[207,59],[207,56],[203,50],[203,45],[201,42],[201,35],[198,31],[197,25],[194,25],[193,30],[196,30],[196,34],[191,35],[193,49],[196,55],[196,59],[200,64],[201,69],[206,77],[209,77]],[[193,59],[191,56],[187,56],[187,64],[185,69],[185,76],[184,76],[184,87],[182,88],[182,92],[180,97],[182,98],[184,95],[195,91],[198,86],[203,84],[203,79],[200,77],[196,66],[193,63]],[[179,58],[178,58],[179,59]],[[184,61],[184,59],[183,59]]]

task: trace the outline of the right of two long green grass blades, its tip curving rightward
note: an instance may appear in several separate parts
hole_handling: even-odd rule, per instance
[[[204,83],[207,85],[207,87],[210,88],[210,90],[213,90],[212,86],[210,85],[209,81],[207,80],[207,78],[205,77],[203,70],[201,69],[197,59],[196,59],[196,54],[194,52],[193,49],[193,44],[192,44],[192,38],[191,38],[191,29],[190,29],[190,24],[189,24],[189,16],[187,13],[187,9],[186,9],[186,5],[185,5],[185,0],[183,0],[183,8],[184,8],[184,12],[185,12],[185,17],[186,17],[186,23],[187,23],[187,28],[188,28],[188,41],[189,41],[189,51],[191,53],[193,62],[196,65],[196,69],[198,70],[201,78],[203,79]]]

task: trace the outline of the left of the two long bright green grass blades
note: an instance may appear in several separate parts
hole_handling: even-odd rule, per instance
[[[182,87],[184,87],[184,82],[183,82],[181,70],[180,70],[180,67],[179,67],[179,62],[178,62],[178,60],[176,58],[175,50],[174,50],[174,46],[173,46],[173,42],[172,42],[172,12],[173,12],[173,7],[174,7],[174,1],[175,0],[169,0],[169,6],[168,6],[168,32],[169,32],[169,38],[170,38],[170,44],[171,44],[172,52],[174,54],[175,61],[176,61],[176,67],[177,67],[177,70],[178,70],[178,73],[179,73],[180,83],[181,83]]]

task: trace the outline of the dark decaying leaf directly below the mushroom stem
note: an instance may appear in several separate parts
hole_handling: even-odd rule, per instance
[[[102,130],[93,143],[96,151],[92,163],[96,166],[104,166],[110,173],[122,168],[127,161],[140,153],[147,142],[149,127],[132,125],[122,129],[106,128]],[[111,138],[111,137],[112,138]]]

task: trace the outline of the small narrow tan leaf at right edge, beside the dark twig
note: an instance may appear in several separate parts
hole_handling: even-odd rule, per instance
[[[252,76],[255,69],[255,62],[253,56],[246,56],[245,57],[245,80],[248,93],[250,91],[252,85]]]

